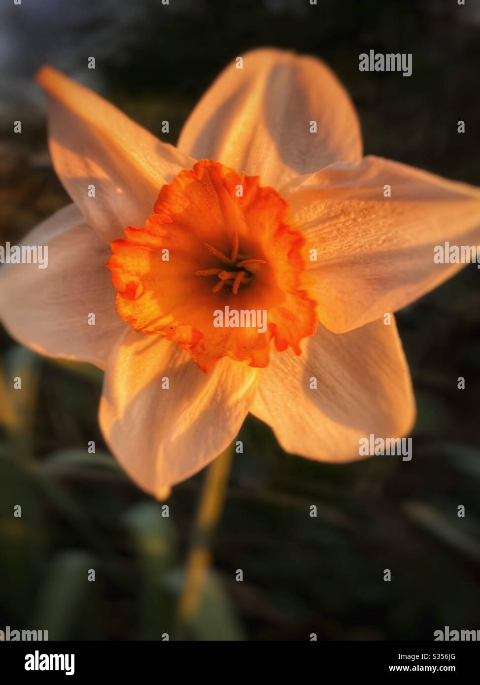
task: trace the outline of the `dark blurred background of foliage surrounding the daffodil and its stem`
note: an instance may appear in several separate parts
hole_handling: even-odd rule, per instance
[[[1,0],[0,12],[3,242],[69,201],[32,81],[43,62],[175,143],[237,55],[263,45],[313,53],[351,93],[366,153],[480,185],[480,10],[471,0]],[[412,76],[359,72],[369,49],[412,53]],[[418,402],[411,462],[310,462],[247,420],[197,638],[431,640],[445,625],[480,628],[479,279],[470,265],[398,315]],[[105,449],[101,373],[38,358],[5,332],[0,349],[0,629],[159,638],[171,629],[204,474],[175,487],[163,518]],[[16,375],[21,393],[11,388]]]

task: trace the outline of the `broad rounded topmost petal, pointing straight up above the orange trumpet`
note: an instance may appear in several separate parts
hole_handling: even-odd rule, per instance
[[[357,114],[323,62],[274,49],[242,60],[242,69],[236,61],[224,69],[190,114],[179,149],[277,189],[332,162],[361,160]]]

